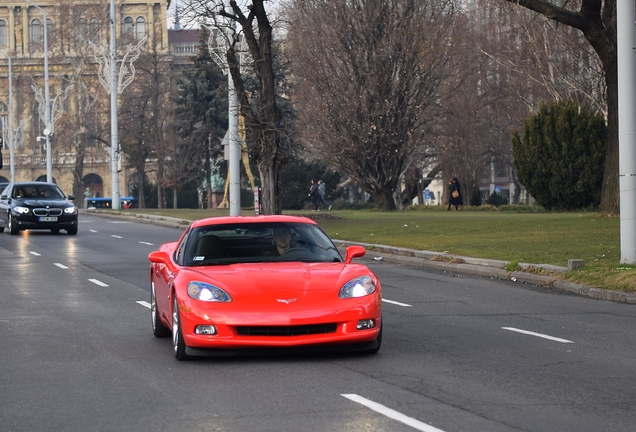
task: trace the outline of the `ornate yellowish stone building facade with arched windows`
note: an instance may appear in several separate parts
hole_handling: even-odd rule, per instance
[[[153,49],[161,53],[165,61],[174,61],[169,46],[169,4],[169,0],[116,0],[119,57],[125,52],[123,47],[142,41],[142,49]],[[102,53],[108,52],[109,12],[108,3],[95,0],[0,0],[0,136],[5,162],[0,170],[0,181],[10,179],[11,135],[15,180],[46,179],[46,146],[41,138],[47,127],[43,96],[46,32],[50,118],[54,132],[53,180],[67,194],[112,195],[110,96],[100,83],[100,64],[107,56],[99,54],[100,49]],[[12,103],[9,75],[12,76]],[[102,73],[101,81],[105,80],[104,76]],[[12,134],[9,133],[10,113]],[[124,168],[119,176],[120,194],[127,196],[131,173]]]

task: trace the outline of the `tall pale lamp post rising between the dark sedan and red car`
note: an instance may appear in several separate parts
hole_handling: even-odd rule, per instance
[[[115,0],[110,0],[110,151],[112,209],[120,209],[119,194],[119,132],[117,124],[117,38],[115,35]]]

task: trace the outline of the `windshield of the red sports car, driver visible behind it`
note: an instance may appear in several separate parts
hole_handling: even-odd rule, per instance
[[[255,262],[340,262],[333,242],[308,223],[238,223],[194,228],[186,266]]]

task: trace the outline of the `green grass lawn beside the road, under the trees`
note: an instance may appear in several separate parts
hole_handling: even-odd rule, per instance
[[[228,210],[132,209],[127,212],[194,220]],[[334,239],[454,255],[534,264],[586,267],[566,279],[606,289],[636,292],[636,267],[620,265],[620,219],[593,212],[513,213],[498,211],[346,210],[285,212],[314,218]],[[242,210],[244,216],[253,210]]]

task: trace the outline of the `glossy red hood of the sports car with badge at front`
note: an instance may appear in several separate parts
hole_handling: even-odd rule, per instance
[[[368,275],[363,265],[339,263],[233,264],[191,268],[183,282],[198,280],[226,290],[242,304],[266,300],[324,299],[356,276]],[[331,296],[329,296],[331,297]]]

